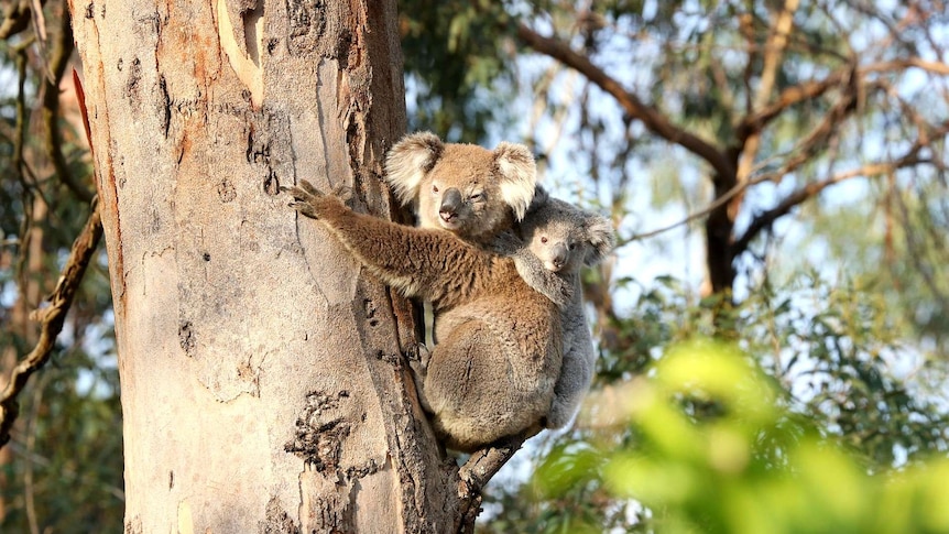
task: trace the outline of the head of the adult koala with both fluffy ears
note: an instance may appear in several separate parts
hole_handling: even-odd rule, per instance
[[[389,151],[385,181],[400,203],[412,205],[418,227],[486,246],[524,218],[537,170],[522,144],[502,142],[490,151],[418,132]]]

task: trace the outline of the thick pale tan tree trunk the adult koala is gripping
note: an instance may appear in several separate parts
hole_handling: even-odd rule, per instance
[[[116,312],[126,532],[445,532],[412,307],[280,185],[390,216],[394,2],[70,1]]]

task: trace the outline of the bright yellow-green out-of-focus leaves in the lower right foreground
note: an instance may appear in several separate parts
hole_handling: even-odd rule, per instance
[[[592,480],[650,513],[636,531],[663,533],[924,533],[949,531],[949,460],[871,473],[812,421],[785,408],[783,392],[733,345],[672,348],[646,377],[601,404],[600,424],[635,444],[557,446],[532,490],[556,498]],[[602,395],[601,395],[602,399]],[[715,403],[696,416],[694,403]],[[564,532],[600,532],[598,519]]]

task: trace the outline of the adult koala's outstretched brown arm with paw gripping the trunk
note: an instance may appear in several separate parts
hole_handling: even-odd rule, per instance
[[[283,187],[301,215],[323,222],[352,254],[403,295],[451,305],[490,271],[492,255],[443,230],[423,230],[357,214],[306,181]]]

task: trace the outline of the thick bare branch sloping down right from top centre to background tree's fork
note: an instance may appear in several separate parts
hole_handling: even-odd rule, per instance
[[[534,51],[557,59],[586,76],[600,89],[615,98],[623,111],[642,121],[651,132],[698,155],[708,162],[717,174],[721,176],[734,175],[734,166],[722,151],[698,135],[669,122],[658,110],[646,106],[636,95],[624,89],[617,79],[593,65],[587,56],[574,51],[561,41],[536,33],[523,23],[517,23],[517,37]]]

